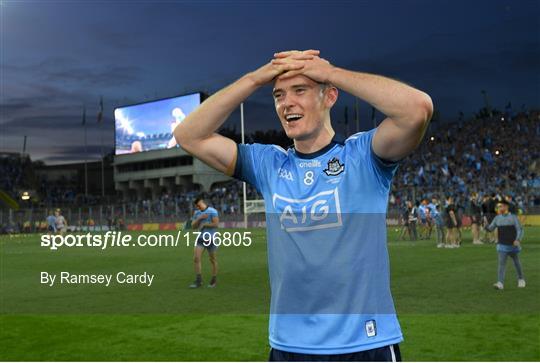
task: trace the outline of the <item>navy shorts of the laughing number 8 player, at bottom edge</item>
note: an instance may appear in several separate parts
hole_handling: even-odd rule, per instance
[[[399,345],[364,350],[345,354],[303,354],[283,350],[270,350],[269,362],[401,362]]]

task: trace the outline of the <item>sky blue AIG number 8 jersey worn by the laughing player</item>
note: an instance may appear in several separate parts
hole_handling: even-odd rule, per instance
[[[265,200],[276,349],[342,354],[402,340],[386,246],[397,164],[374,154],[374,132],[312,154],[238,145],[235,177]]]

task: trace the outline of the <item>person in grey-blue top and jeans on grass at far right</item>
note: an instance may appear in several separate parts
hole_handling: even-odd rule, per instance
[[[493,284],[497,290],[504,289],[504,275],[506,272],[506,259],[508,256],[514,261],[518,275],[518,287],[525,287],[525,279],[519,253],[521,252],[521,240],[523,239],[523,228],[516,215],[510,213],[509,202],[503,199],[498,204],[499,214],[493,219],[491,224],[486,227],[488,231],[494,231],[497,228],[497,253],[499,255],[498,279]]]

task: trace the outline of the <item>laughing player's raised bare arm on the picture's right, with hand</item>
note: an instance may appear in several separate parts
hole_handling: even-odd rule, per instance
[[[287,64],[298,51],[276,53],[274,64]],[[375,107],[387,118],[373,137],[373,151],[385,160],[398,161],[420,143],[433,114],[431,98],[404,83],[369,73],[348,71],[314,57],[304,67],[281,77],[304,74],[322,83],[330,83]]]

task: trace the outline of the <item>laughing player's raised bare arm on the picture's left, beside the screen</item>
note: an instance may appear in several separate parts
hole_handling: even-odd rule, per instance
[[[178,144],[191,155],[227,175],[234,173],[237,157],[233,140],[216,133],[233,110],[255,90],[275,77],[303,67],[318,51],[307,51],[285,65],[271,62],[223,88],[205,100],[174,129]]]

